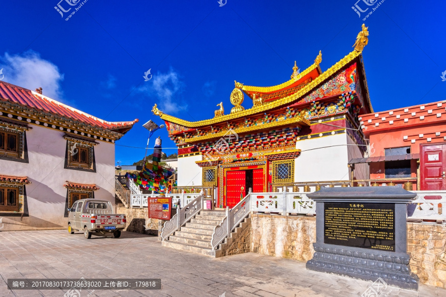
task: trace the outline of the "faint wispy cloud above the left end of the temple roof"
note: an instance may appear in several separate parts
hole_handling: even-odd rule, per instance
[[[149,96],[156,96],[159,100],[156,102],[159,109],[165,113],[174,114],[187,109],[187,104],[180,103],[179,97],[184,87],[185,84],[181,81],[178,72],[170,68],[166,73],[158,71],[157,74],[153,74],[153,78],[144,82],[138,91]]]

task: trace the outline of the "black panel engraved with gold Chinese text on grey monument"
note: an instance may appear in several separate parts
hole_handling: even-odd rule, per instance
[[[395,205],[325,203],[324,242],[395,251]]]

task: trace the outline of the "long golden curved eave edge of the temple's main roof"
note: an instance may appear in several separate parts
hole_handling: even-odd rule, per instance
[[[244,111],[241,111],[238,113],[224,115],[222,117],[218,117],[218,118],[214,118],[214,119],[204,119],[204,120],[199,120],[199,121],[194,121],[194,122],[183,120],[183,119],[178,119],[178,118],[166,115],[162,112],[160,112],[159,115],[160,115],[161,119],[164,119],[165,121],[173,122],[173,123],[176,123],[176,124],[182,125],[184,127],[188,127],[188,128],[198,128],[198,127],[203,127],[203,126],[213,125],[216,123],[225,122],[225,121],[232,120],[232,119],[244,118],[247,116],[251,116],[251,115],[263,113],[263,112],[266,112],[269,110],[273,110],[273,109],[288,105],[290,103],[293,103],[293,102],[301,99],[302,97],[307,95],[309,92],[311,92],[313,89],[315,89],[318,85],[322,84],[324,81],[329,79],[332,75],[334,75],[342,67],[344,67],[345,65],[347,65],[348,63],[350,63],[351,61],[353,61],[354,59],[359,57],[361,55],[361,53],[362,52],[357,52],[357,51],[353,51],[353,52],[349,53],[347,56],[340,59],[333,66],[331,66],[329,69],[327,69],[321,75],[319,75],[315,80],[310,82],[308,85],[306,85],[305,87],[303,87],[296,93],[294,93],[290,96],[281,98],[279,100],[274,100],[274,101],[265,103],[261,106],[252,107],[250,109],[247,109],[247,110],[244,110]],[[307,71],[308,69],[311,69],[311,66],[309,68],[305,69],[305,71]],[[366,96],[368,97],[368,91],[367,90],[365,90],[365,91],[367,92]],[[369,101],[368,104],[371,108],[370,99],[368,101]]]

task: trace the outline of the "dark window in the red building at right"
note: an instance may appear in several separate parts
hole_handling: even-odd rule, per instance
[[[384,150],[386,178],[410,178],[410,146]]]

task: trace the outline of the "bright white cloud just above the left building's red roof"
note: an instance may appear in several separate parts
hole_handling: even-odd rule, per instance
[[[22,55],[0,56],[0,69],[3,68],[3,81],[30,90],[42,87],[43,94],[60,100],[63,97],[60,83],[63,74],[52,62],[42,59],[39,53],[27,51]]]

